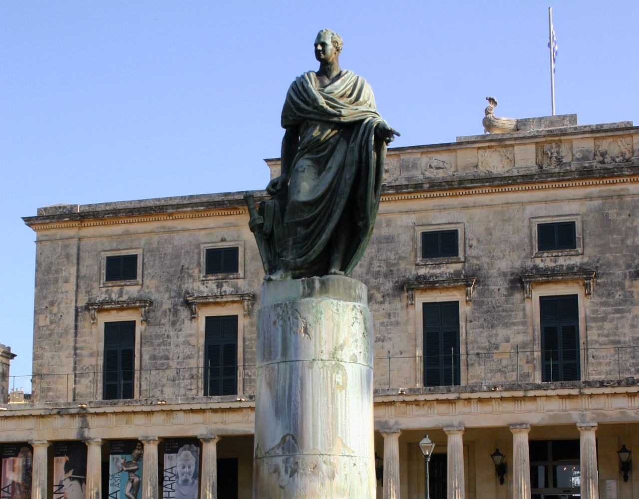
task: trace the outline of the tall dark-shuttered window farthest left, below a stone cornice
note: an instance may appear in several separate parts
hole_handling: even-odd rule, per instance
[[[135,321],[104,323],[103,399],[132,399],[134,378]]]

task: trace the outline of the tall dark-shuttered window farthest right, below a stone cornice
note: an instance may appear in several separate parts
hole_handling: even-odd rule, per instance
[[[542,381],[580,380],[577,295],[540,296]]]

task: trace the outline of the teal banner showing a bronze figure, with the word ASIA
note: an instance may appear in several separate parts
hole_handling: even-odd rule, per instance
[[[142,491],[142,442],[109,442],[109,499],[140,499]]]

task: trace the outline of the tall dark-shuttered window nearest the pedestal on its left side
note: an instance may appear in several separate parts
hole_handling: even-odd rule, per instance
[[[204,323],[204,395],[237,394],[237,316],[207,317]]]

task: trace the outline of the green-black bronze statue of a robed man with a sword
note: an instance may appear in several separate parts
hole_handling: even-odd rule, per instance
[[[317,72],[291,84],[282,109],[281,175],[255,208],[246,201],[265,279],[348,275],[373,232],[386,146],[399,132],[377,112],[373,90],[339,67],[342,38],[315,39]]]

